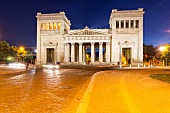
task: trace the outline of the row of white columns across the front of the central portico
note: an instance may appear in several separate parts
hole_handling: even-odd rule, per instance
[[[103,61],[103,43],[104,42],[91,42],[91,63],[95,62],[95,43],[99,43],[99,62]],[[85,62],[85,48],[82,42],[78,43],[78,61],[75,60],[75,42],[64,44],[64,61],[65,62]],[[71,47],[71,48],[70,48]],[[70,51],[71,50],[71,51]],[[70,53],[71,52],[71,53]],[[71,60],[70,60],[71,57]],[[110,42],[106,42],[105,50],[106,62],[110,62]]]

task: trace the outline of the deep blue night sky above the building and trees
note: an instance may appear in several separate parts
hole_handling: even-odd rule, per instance
[[[0,0],[0,40],[36,46],[36,14],[64,11],[71,29],[109,28],[112,9],[144,8],[144,44],[170,43],[170,0]]]

